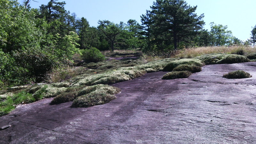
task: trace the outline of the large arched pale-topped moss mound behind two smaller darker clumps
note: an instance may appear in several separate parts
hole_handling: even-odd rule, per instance
[[[170,63],[168,63],[163,71],[172,71],[174,68],[176,68],[179,65],[195,65],[195,66],[199,66],[199,67],[203,67],[204,66],[204,62],[202,60],[199,59],[180,59],[180,60],[174,60]]]

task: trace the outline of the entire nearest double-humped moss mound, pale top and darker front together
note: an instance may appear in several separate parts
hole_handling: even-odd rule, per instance
[[[120,89],[113,86],[103,84],[88,86],[78,93],[78,97],[73,101],[72,107],[87,108],[109,103],[111,100],[116,99],[115,94],[118,92],[120,92]]]

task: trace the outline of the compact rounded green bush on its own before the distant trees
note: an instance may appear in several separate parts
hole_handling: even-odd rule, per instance
[[[100,52],[100,50],[94,47],[81,50],[81,53],[81,58],[85,60],[85,62],[98,62],[105,60],[105,56]]]

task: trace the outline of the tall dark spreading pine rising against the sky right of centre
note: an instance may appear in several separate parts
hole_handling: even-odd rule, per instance
[[[204,15],[197,16],[195,11],[196,6],[191,7],[183,0],[156,0],[148,11],[150,17],[147,20],[155,43],[163,44],[171,39],[177,50],[180,42],[190,42],[204,25]]]

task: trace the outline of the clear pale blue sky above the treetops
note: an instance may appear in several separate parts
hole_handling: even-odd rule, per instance
[[[18,0],[20,3],[24,0]],[[49,0],[31,0],[32,8],[39,8]],[[65,9],[75,12],[77,17],[86,18],[90,26],[97,27],[99,20],[114,23],[134,19],[140,22],[140,16],[150,10],[155,0],[59,0],[65,1]],[[210,30],[210,23],[228,26],[233,36],[240,40],[250,38],[252,27],[256,25],[256,0],[186,0],[190,6],[196,6],[197,15],[204,13],[205,29]]]

